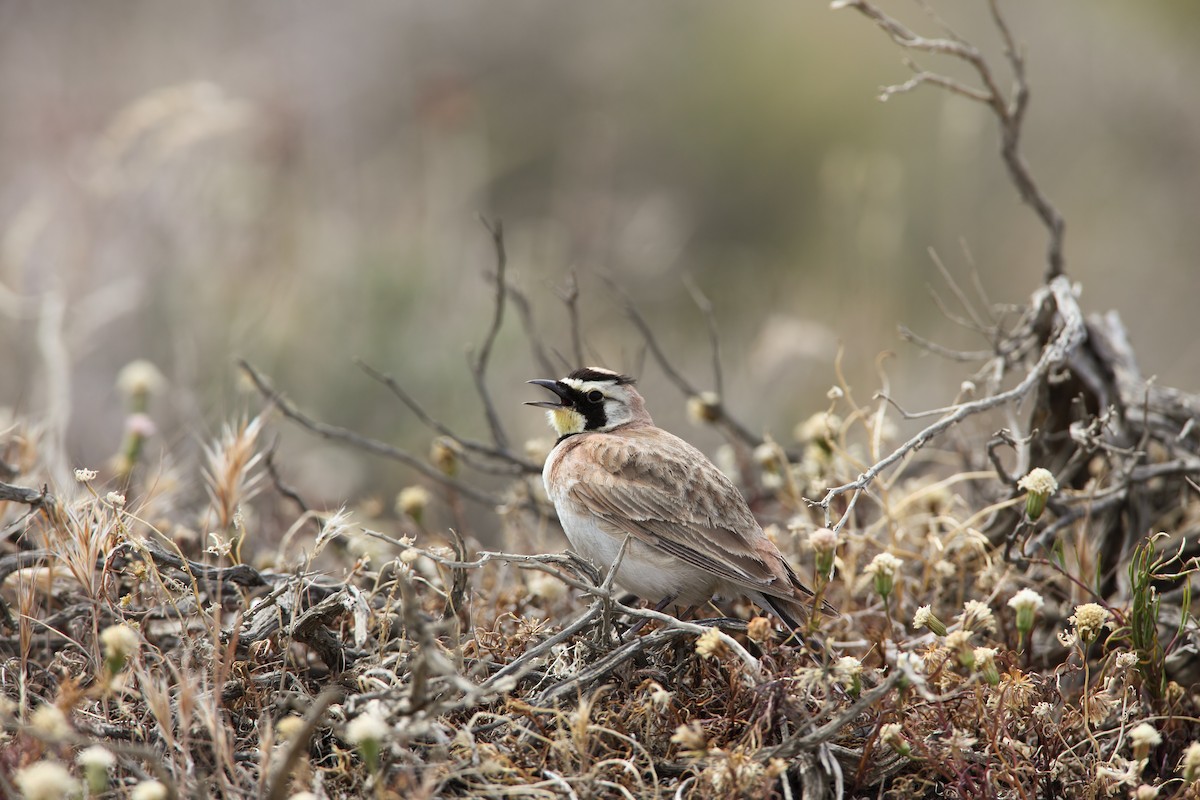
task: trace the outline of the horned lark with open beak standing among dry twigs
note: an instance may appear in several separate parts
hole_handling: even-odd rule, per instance
[[[797,627],[812,593],[732,481],[654,426],[632,378],[588,367],[529,383],[557,396],[528,405],[550,409],[559,437],[541,475],[576,553],[606,570],[628,536],[616,582],[640,597],[665,608],[745,595]]]

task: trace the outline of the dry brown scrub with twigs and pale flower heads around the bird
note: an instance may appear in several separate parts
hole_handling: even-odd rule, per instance
[[[680,620],[545,554],[548,443],[512,441],[490,357],[510,313],[546,374],[583,347],[559,362],[533,333],[492,224],[496,302],[463,377],[486,441],[370,366],[428,428],[427,456],[313,419],[250,363],[258,408],[191,471],[144,456],[150,399],[168,391],[146,365],[122,377],[127,433],[96,473],[55,481],[73,465],[52,463],[38,421],[0,432],[0,794],[1200,796],[1198,401],[1139,374],[1116,314],[1080,308],[1061,217],[1018,148],[1027,95],[1000,13],[1012,92],[952,34],[841,5],[974,70],[978,86],[918,70],[895,90],[931,83],[992,109],[1046,228],[1045,284],[996,308],[947,271],[946,311],[980,349],[918,341],[974,365],[946,408],[904,411],[881,362],[884,391],[857,397],[834,374],[828,407],[788,438],[722,404],[715,325],[704,391],[628,306],[836,615],[809,620],[803,643],[744,603]],[[312,510],[272,453],[280,426],[421,483],[395,509]],[[455,524],[430,525],[434,510]]]

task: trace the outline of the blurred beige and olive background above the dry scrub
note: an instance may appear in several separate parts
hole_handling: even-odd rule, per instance
[[[985,4],[941,5],[1007,86]],[[1121,312],[1147,375],[1200,390],[1200,5],[1003,6],[1028,54],[1025,155],[1085,308]],[[937,34],[916,4],[884,7]],[[480,215],[503,219],[544,342],[569,354],[574,276],[589,360],[637,372],[658,421],[708,450],[610,279],[712,389],[694,282],[728,407],[781,440],[828,404],[839,347],[859,402],[894,351],[892,393],[943,405],[970,368],[898,325],[986,343],[938,311],[930,249],[1019,303],[1045,236],[984,108],[930,88],[878,102],[910,74],[827,2],[8,0],[0,407],[101,465],[122,435],[115,375],[149,359],[170,385],[154,452],[179,457],[259,407],[242,356],[316,416],[426,452],[358,356],[486,438],[467,367],[492,314]],[[521,405],[541,377],[510,308],[490,380],[516,441],[548,434]],[[282,447],[328,503],[413,480],[295,431]]]

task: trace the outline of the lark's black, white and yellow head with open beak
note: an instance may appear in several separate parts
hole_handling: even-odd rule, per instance
[[[634,379],[611,369],[584,367],[558,380],[530,380],[554,392],[557,399],[526,405],[548,409],[546,416],[559,437],[589,431],[612,431],[630,422],[650,422]]]

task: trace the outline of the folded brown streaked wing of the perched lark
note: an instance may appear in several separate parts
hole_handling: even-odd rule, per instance
[[[748,589],[809,593],[766,537],[742,493],[688,443],[655,431],[596,438],[574,467],[570,499],[616,534]]]

